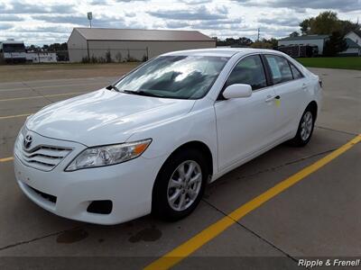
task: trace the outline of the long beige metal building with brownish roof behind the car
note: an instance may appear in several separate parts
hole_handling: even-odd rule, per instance
[[[68,40],[70,62],[144,60],[173,50],[215,47],[216,40],[199,31],[74,28]]]

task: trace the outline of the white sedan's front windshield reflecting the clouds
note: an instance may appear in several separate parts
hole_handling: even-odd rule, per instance
[[[134,94],[199,99],[208,93],[228,58],[163,56],[125,76],[116,88]],[[136,92],[136,93],[135,93]]]

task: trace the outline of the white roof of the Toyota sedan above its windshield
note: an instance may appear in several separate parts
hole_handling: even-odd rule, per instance
[[[249,53],[278,53],[282,52],[273,49],[251,49],[251,48],[210,48],[210,49],[187,49],[162,54],[162,56],[215,56],[232,57],[236,54],[245,55]]]

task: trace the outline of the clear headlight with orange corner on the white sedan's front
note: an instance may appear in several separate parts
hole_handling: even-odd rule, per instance
[[[65,171],[76,171],[87,167],[108,166],[139,157],[152,139],[87,148],[67,166]]]

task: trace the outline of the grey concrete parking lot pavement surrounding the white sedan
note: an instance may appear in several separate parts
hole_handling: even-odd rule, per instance
[[[0,267],[290,269],[299,268],[302,257],[360,258],[361,143],[356,142],[361,71],[311,71],[323,80],[324,103],[307,147],[282,145],[238,167],[210,184],[185,220],[168,223],[146,216],[115,226],[66,220],[29,201],[15,183],[12,151],[27,115],[109,85],[116,77],[0,79]],[[345,151],[330,158],[352,139]],[[324,157],[325,162],[312,166]],[[297,176],[304,168],[307,174]],[[299,177],[297,183],[267,200],[261,196],[264,201],[257,207],[249,204],[290,177]],[[248,205],[251,211],[239,220],[229,216]]]

